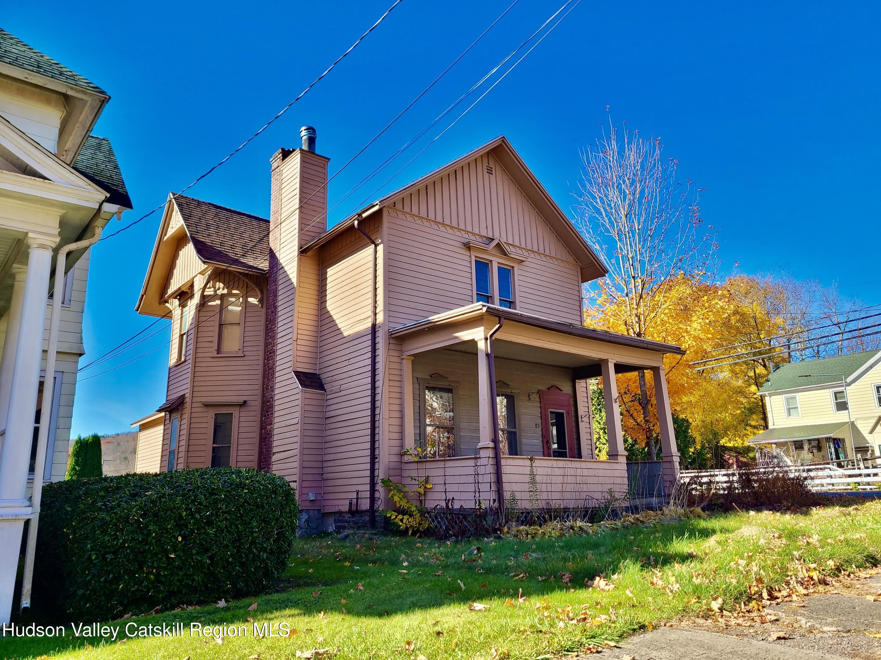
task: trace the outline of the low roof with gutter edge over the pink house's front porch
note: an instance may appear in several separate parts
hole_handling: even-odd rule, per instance
[[[612,333],[608,330],[597,330],[593,327],[576,326],[574,323],[565,323],[553,319],[545,319],[535,314],[527,314],[526,312],[518,312],[517,310],[509,310],[504,307],[497,307],[494,304],[474,303],[464,307],[457,307],[448,312],[435,314],[427,319],[413,321],[405,326],[399,326],[389,331],[392,337],[403,337],[408,334],[417,333],[432,327],[443,326],[451,323],[458,323],[463,320],[476,319],[479,316],[489,314],[501,319],[522,323],[526,326],[540,327],[544,330],[553,332],[571,334],[575,337],[591,339],[594,341],[606,341],[619,346],[630,346],[633,348],[644,348],[658,353],[669,353],[677,356],[684,356],[685,350],[675,344],[667,344],[663,341],[651,341],[648,339],[640,339],[639,337],[630,337],[626,334]]]

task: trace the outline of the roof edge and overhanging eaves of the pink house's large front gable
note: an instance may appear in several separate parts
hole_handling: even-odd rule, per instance
[[[608,269],[603,265],[603,261],[596,256],[596,253],[590,248],[587,241],[584,240],[578,230],[575,229],[572,221],[569,220],[563,210],[559,208],[557,202],[553,201],[552,196],[544,189],[544,186],[542,186],[536,175],[529,170],[529,167],[523,162],[520,154],[515,151],[514,147],[511,146],[511,143],[507,141],[507,137],[505,136],[496,137],[488,143],[480,145],[477,149],[471,150],[459,158],[455,158],[455,160],[450,161],[447,165],[442,165],[436,170],[419,177],[417,180],[411,181],[411,183],[408,183],[406,186],[400,187],[381,197],[376,202],[361,209],[358,213],[346,218],[343,222],[334,225],[321,236],[309,241],[301,248],[301,252],[307,253],[314,250],[315,247],[321,246],[330,238],[351,228],[359,216],[365,216],[368,211],[372,213],[376,209],[387,206],[389,203],[396,201],[396,199],[410,193],[412,190],[426,185],[428,181],[437,179],[447,172],[452,172],[457,167],[467,163],[472,158],[477,158],[487,151],[492,151],[492,155],[500,162],[502,167],[505,168],[511,178],[515,180],[515,183],[521,188],[523,193],[529,197],[529,201],[532,202],[538,210],[538,213],[544,218],[544,222],[551,227],[552,231],[561,241],[563,241],[566,248],[573,254],[575,260],[581,266],[581,282],[589,282],[590,280],[605,275],[608,272]]]

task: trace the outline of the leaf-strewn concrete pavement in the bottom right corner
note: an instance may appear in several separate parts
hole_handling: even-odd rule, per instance
[[[686,621],[603,649],[625,660],[881,660],[881,575],[766,608],[773,623],[729,627],[724,620]]]

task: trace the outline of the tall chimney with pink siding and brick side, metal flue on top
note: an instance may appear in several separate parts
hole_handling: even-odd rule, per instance
[[[260,421],[261,469],[298,481],[298,490],[300,385],[294,371],[318,370],[319,295],[319,251],[300,254],[300,248],[327,230],[329,162],[315,153],[315,128],[300,128],[300,137],[300,149],[280,149],[270,159],[270,265]],[[285,458],[283,465],[273,466],[273,451],[284,451],[293,460]]]

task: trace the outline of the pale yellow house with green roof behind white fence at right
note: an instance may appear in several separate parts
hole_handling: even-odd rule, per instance
[[[781,365],[759,390],[768,429],[750,444],[797,465],[874,466],[881,456],[881,350]]]

